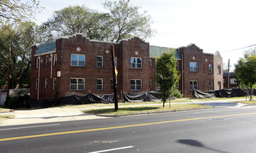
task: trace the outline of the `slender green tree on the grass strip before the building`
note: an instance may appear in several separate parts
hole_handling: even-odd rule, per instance
[[[174,51],[164,52],[162,56],[156,59],[155,81],[160,86],[160,91],[162,92],[163,108],[165,108],[165,101],[177,89],[177,83],[180,77],[176,69],[177,61],[174,53]]]

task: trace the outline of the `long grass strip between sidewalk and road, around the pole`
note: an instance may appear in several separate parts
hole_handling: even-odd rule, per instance
[[[138,114],[138,113],[152,113],[155,111],[178,111],[184,109],[192,109],[192,108],[212,108],[206,105],[195,105],[195,104],[186,104],[186,105],[169,105],[166,104],[165,108],[162,106],[140,106],[136,108],[119,108],[118,111],[114,111],[114,108],[98,108],[85,110],[85,113],[88,114],[104,114],[104,115],[122,115],[122,114]]]

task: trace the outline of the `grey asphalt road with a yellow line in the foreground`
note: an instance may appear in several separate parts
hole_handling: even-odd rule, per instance
[[[255,150],[255,106],[0,127],[0,152]]]

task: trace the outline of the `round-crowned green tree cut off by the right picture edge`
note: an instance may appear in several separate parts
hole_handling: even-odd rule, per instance
[[[245,54],[245,58],[240,58],[238,64],[235,64],[235,77],[238,83],[250,88],[250,101],[252,100],[252,87],[256,83],[256,55]]]

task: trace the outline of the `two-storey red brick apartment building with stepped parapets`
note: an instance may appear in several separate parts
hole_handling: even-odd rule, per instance
[[[85,38],[81,34],[33,45],[30,99],[54,99],[69,95],[112,94],[112,42]],[[178,49],[149,45],[138,37],[114,43],[117,92],[155,91],[155,57],[175,51],[181,79],[178,88],[185,97],[193,89],[222,88],[222,58],[205,54],[196,45]],[[182,73],[183,72],[183,73]]]

